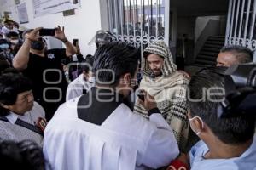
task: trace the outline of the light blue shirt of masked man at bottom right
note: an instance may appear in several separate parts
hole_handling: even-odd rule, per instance
[[[208,152],[207,144],[199,141],[190,152],[191,170],[256,170],[256,138],[253,144],[239,157],[230,159],[204,159]]]

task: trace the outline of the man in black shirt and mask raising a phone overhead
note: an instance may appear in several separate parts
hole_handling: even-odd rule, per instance
[[[26,77],[32,79],[35,100],[44,107],[46,119],[55,113],[57,107],[65,102],[67,81],[62,70],[61,59],[76,53],[73,44],[67,40],[64,28],[55,28],[55,38],[61,40],[64,48],[45,50],[39,30],[28,30],[23,33],[25,41],[15,55],[13,65],[24,72]]]

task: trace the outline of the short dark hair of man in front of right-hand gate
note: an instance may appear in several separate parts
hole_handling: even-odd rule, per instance
[[[253,51],[240,45],[224,46],[220,49],[220,53],[229,52],[233,54],[239,63],[250,63],[253,61]]]

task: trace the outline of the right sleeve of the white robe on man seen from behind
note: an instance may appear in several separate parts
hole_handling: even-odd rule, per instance
[[[172,128],[166,123],[163,116],[157,113],[152,114],[149,121],[154,122],[157,128],[149,138],[146,150],[144,150],[143,164],[153,168],[167,166],[179,154]]]

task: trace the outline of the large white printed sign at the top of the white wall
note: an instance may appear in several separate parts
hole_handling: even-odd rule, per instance
[[[80,0],[33,0],[34,17],[80,8]]]

